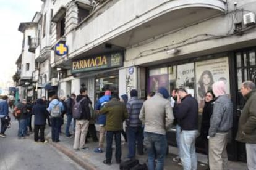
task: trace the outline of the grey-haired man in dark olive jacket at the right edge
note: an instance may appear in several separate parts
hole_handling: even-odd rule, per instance
[[[236,139],[244,142],[247,152],[247,166],[249,170],[256,167],[256,86],[252,81],[245,81],[241,85],[241,94],[246,103],[239,119]]]

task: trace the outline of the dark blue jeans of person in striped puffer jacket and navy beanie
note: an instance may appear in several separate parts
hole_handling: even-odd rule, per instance
[[[137,152],[143,154],[143,129],[142,127],[128,127],[128,158],[135,158],[135,147],[137,141]]]

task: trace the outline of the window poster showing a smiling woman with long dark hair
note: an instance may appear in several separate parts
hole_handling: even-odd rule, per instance
[[[229,94],[228,57],[196,62],[195,73],[196,93],[200,112],[203,110],[205,93],[212,89],[212,85],[216,81],[223,80],[226,83],[226,91]]]

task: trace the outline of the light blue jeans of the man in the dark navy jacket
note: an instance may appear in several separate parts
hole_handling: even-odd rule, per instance
[[[184,170],[197,170],[197,154],[195,153],[195,139],[198,131],[181,131],[180,153]]]

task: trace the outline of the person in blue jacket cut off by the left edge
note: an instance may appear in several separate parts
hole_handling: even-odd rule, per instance
[[[7,95],[4,95],[2,97],[2,101],[0,102],[0,118],[1,118],[1,133],[0,137],[6,137],[4,132],[6,132],[7,129],[7,121],[6,121],[6,116],[9,114],[9,108],[8,108],[8,103],[7,103],[8,97]]]

